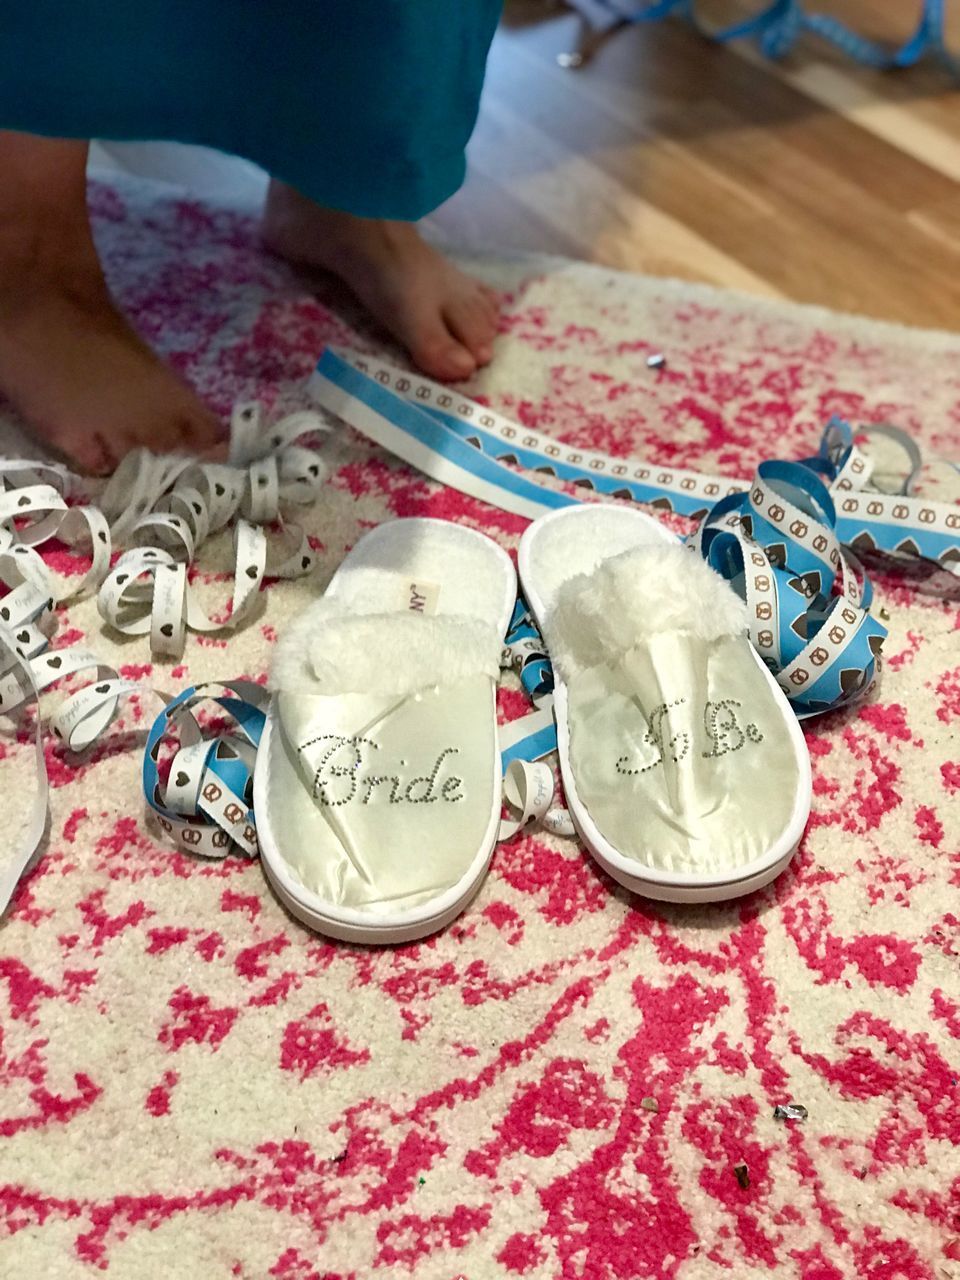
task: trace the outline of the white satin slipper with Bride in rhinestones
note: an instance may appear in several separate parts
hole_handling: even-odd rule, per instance
[[[253,808],[311,928],[406,942],[453,920],[497,841],[509,557],[442,520],[366,534],[278,644]]]

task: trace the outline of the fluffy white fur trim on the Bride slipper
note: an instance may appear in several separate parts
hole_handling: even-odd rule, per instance
[[[389,695],[456,684],[477,672],[497,680],[502,646],[495,628],[477,618],[353,613],[330,595],[287,628],[274,653],[270,687]]]

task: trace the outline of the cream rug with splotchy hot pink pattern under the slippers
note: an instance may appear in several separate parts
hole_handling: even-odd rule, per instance
[[[123,303],[224,412],[301,402],[330,339],[376,344],[244,215],[133,186],[97,188],[95,209]],[[959,337],[556,260],[481,270],[506,305],[468,389],[563,439],[749,475],[812,452],[840,412],[960,454]],[[260,676],[371,525],[444,516],[516,547],[521,520],[348,431],[332,458],[320,575],[271,586],[259,623],[151,668],[84,602],[56,644],[86,637],[168,689]],[[150,705],[87,758],[49,744],[49,849],[0,931],[0,1271],[960,1276],[960,613],[877,584],[879,694],[808,727],[803,847],[727,906],[630,897],[536,835],[498,849],[445,933],[329,943],[256,863],[150,835]],[[503,714],[525,709],[511,684]],[[5,742],[15,813],[28,758]],[[786,1101],[806,1123],[773,1119]]]

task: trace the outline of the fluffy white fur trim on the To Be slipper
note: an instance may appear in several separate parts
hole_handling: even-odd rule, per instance
[[[746,626],[744,602],[699,556],[678,545],[640,547],[559,588],[547,643],[566,678],[658,632],[718,640]]]

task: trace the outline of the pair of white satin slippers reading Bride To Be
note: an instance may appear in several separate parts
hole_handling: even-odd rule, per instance
[[[518,566],[554,663],[584,845],[646,897],[707,902],[769,883],[803,835],[810,764],[739,596],[622,507],[535,521]],[[516,586],[484,535],[398,520],[356,544],[279,643],[253,803],[264,868],[311,928],[410,941],[483,883]]]

